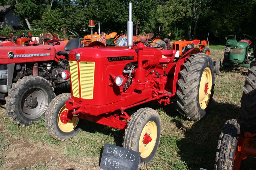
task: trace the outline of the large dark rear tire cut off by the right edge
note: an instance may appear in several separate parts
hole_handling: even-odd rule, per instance
[[[256,61],[251,63],[245,77],[241,98],[240,119],[246,131],[256,133]]]

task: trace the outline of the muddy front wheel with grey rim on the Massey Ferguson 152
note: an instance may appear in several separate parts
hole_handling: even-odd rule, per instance
[[[20,126],[27,126],[44,116],[55,97],[51,83],[39,76],[25,76],[13,83],[6,99],[6,113]]]

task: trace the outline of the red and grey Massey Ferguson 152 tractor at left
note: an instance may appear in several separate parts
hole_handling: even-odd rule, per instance
[[[21,126],[44,115],[55,88],[70,89],[70,80],[61,73],[69,70],[68,53],[81,47],[81,40],[44,41],[51,45],[36,45],[30,39],[23,46],[0,46],[0,98],[6,99],[8,117]]]

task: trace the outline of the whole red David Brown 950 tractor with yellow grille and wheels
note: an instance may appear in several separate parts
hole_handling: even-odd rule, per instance
[[[177,96],[182,115],[200,120],[212,99],[215,75],[211,57],[198,53],[198,48],[173,62],[176,50],[159,50],[142,42],[133,45],[131,8],[129,3],[128,47],[70,51],[71,94],[52,100],[45,125],[60,141],[74,137],[82,120],[125,129],[123,146],[140,152],[139,166],[143,166],[158,148],[160,116],[151,108],[141,108],[132,117],[126,110],[152,100],[168,105]]]

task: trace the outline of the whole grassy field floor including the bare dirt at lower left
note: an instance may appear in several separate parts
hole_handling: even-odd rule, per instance
[[[223,57],[224,46],[210,46],[213,60]],[[178,106],[153,105],[140,107],[156,109],[161,117],[162,133],[154,159],[144,169],[213,169],[220,130],[231,118],[239,117],[242,86],[247,68],[231,68],[215,77],[210,112],[198,122],[182,117]],[[5,108],[0,111],[1,169],[99,169],[104,143],[122,146],[124,130],[87,122],[82,131],[70,141],[52,139],[38,122],[28,127],[14,125]],[[241,169],[255,169],[256,159],[242,163]]]

